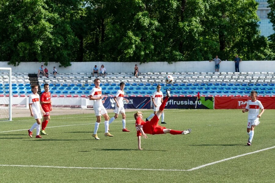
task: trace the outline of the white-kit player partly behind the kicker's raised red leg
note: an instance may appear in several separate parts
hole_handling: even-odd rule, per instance
[[[161,86],[158,85],[157,90],[152,95],[153,111],[154,112],[148,118],[146,118],[145,121],[149,121],[152,117],[154,117],[156,115],[156,113],[160,109],[160,105],[163,102],[163,93],[162,93],[162,91],[160,91],[160,89],[161,89]],[[161,124],[166,124],[164,122],[164,112],[161,114]]]

